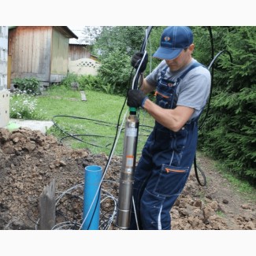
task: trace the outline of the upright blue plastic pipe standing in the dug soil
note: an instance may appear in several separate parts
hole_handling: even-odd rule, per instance
[[[83,225],[81,228],[83,230],[98,230],[101,196],[99,186],[101,180],[101,166],[88,165],[85,167],[83,187]]]

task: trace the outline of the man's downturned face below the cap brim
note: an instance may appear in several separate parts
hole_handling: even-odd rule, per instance
[[[180,55],[173,60],[165,60],[169,69],[173,72],[182,69],[191,61],[191,53],[194,50],[194,45],[189,46],[186,50],[182,50]]]

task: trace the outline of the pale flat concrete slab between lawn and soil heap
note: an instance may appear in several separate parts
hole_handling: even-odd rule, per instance
[[[30,128],[32,130],[39,130],[43,134],[46,134],[46,130],[54,125],[53,121],[36,121],[36,120],[20,120],[20,119],[9,119],[9,124],[6,128]]]

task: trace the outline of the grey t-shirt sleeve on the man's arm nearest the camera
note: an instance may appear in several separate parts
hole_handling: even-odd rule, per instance
[[[210,72],[208,69],[198,67],[194,72],[188,72],[180,83],[177,106],[187,106],[201,110],[210,94]]]

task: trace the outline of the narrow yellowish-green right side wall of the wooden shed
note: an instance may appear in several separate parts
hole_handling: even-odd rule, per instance
[[[53,30],[52,54],[51,54],[50,82],[61,82],[68,73],[69,64],[69,38],[58,30]]]

